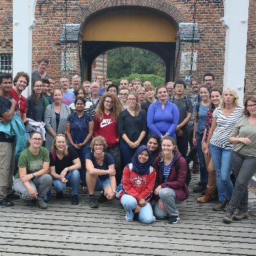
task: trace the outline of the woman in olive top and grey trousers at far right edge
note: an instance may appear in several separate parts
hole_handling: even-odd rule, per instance
[[[234,220],[248,218],[248,182],[256,172],[256,98],[248,97],[244,102],[244,116],[237,122],[230,134],[230,143],[234,144],[231,153],[232,168],[236,176],[236,185],[228,204],[223,221],[232,222],[232,216],[238,208]]]

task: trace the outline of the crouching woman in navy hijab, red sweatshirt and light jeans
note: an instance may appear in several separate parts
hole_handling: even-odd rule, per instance
[[[132,221],[134,217],[145,224],[156,221],[150,204],[156,171],[150,164],[149,148],[140,146],[132,157],[132,163],[124,168],[119,198],[126,211],[127,221]]]

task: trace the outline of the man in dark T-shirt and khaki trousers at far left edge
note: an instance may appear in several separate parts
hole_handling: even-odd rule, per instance
[[[16,100],[12,99],[8,93],[12,90],[12,76],[3,74],[0,76],[0,122],[1,125],[12,120]],[[12,206],[12,179],[15,159],[15,137],[6,138],[4,132],[0,131],[0,205]]]

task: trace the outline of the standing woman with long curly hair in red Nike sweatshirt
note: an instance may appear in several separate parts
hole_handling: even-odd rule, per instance
[[[94,116],[93,137],[102,136],[107,141],[107,152],[113,156],[116,169],[116,182],[122,179],[121,150],[119,147],[120,136],[117,122],[122,111],[120,101],[115,94],[106,92],[102,94]]]

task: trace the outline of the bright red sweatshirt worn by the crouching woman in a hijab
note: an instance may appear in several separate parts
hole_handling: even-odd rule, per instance
[[[132,168],[132,166],[130,166]],[[146,202],[150,201],[153,195],[153,188],[156,180],[156,170],[150,167],[150,173],[139,175],[133,172],[129,167],[125,166],[122,178],[122,190],[119,195],[131,195],[139,202],[143,198]]]

